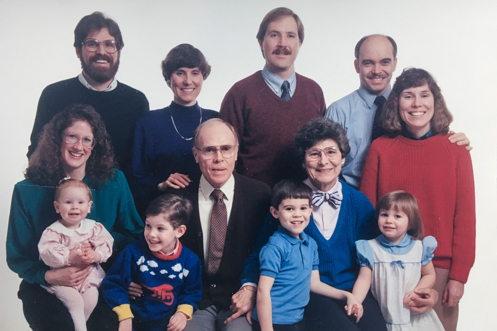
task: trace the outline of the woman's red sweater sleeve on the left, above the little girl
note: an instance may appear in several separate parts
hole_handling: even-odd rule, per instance
[[[364,168],[362,168],[361,182],[359,190],[369,199],[373,207],[376,205],[378,197],[378,176],[380,166],[380,153],[378,143],[373,141],[369,148]]]

